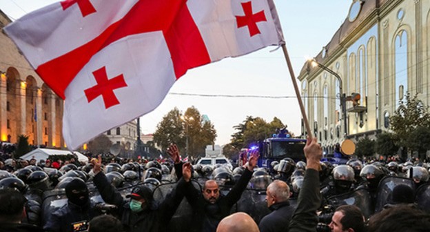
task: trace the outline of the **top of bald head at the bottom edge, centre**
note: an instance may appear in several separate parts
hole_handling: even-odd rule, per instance
[[[246,213],[233,213],[221,220],[216,232],[260,232],[257,224]]]

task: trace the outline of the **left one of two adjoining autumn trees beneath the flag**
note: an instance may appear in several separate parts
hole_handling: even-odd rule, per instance
[[[154,142],[165,151],[170,144],[175,143],[178,148],[185,147],[185,137],[183,135],[184,125],[181,120],[181,112],[178,108],[170,110],[158,123],[154,133]]]

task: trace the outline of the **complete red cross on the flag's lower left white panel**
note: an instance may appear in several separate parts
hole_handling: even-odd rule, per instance
[[[84,90],[85,96],[88,99],[88,103],[101,95],[101,97],[103,97],[103,101],[105,102],[105,108],[110,108],[111,106],[119,104],[119,101],[114,94],[114,90],[116,88],[123,88],[127,86],[123,75],[121,74],[112,79],[107,79],[105,66],[95,70],[92,72],[92,74],[94,75],[97,84],[96,86],[92,86],[91,88]]]

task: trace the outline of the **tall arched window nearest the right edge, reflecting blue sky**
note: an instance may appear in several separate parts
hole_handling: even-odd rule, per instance
[[[402,30],[396,36],[395,41],[395,81],[396,84],[394,94],[396,95],[396,108],[399,106],[399,101],[405,100],[405,95],[408,90],[408,73],[407,73],[407,32]]]

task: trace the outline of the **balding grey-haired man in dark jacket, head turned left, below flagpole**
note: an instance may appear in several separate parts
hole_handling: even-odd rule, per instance
[[[275,180],[267,186],[267,207],[273,212],[258,224],[261,232],[288,231],[289,220],[294,213],[294,207],[289,205],[289,196],[289,186],[281,180]]]

